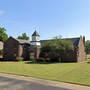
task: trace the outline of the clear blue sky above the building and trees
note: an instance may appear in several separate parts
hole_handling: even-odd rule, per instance
[[[85,36],[90,40],[90,0],[0,0],[0,27],[15,38],[35,29],[40,39]]]

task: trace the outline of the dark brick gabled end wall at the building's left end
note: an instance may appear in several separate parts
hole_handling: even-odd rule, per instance
[[[15,60],[16,57],[18,56],[18,46],[19,46],[19,43],[16,40],[9,38],[4,43],[4,51],[3,51],[4,59]]]

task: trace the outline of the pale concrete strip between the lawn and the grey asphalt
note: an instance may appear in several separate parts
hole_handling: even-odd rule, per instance
[[[32,78],[32,77],[25,77],[25,76],[5,74],[5,73],[0,73],[0,76],[14,78],[14,79],[18,79],[18,80],[31,81],[33,83],[50,85],[50,86],[54,86],[54,87],[68,88],[68,89],[72,89],[72,90],[90,90],[90,87],[88,87],[88,86],[69,84],[69,83],[57,82],[57,81],[51,81],[51,80],[43,80],[43,79]]]

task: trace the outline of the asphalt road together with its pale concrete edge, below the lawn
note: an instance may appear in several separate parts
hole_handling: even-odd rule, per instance
[[[0,90],[90,90],[90,87],[0,73]]]

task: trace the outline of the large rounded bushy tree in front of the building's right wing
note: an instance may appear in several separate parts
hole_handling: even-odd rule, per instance
[[[41,57],[60,59],[63,55],[74,50],[74,46],[69,40],[53,39],[45,43],[41,48]]]

